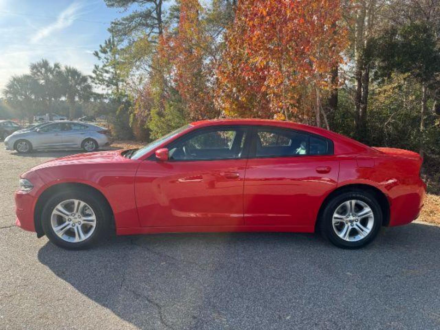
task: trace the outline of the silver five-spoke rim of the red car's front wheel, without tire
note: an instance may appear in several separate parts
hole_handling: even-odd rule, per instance
[[[68,199],[53,209],[51,226],[63,241],[82,242],[95,231],[95,212],[90,205],[79,199]]]

